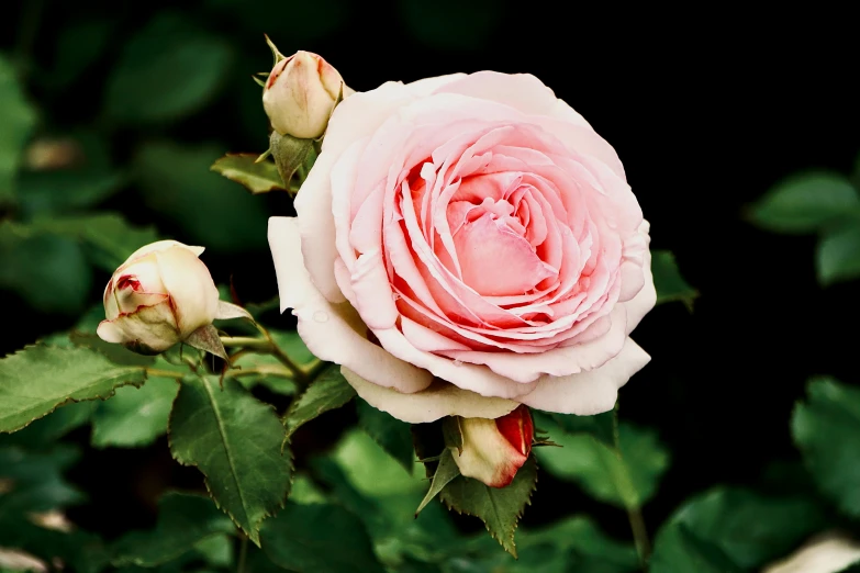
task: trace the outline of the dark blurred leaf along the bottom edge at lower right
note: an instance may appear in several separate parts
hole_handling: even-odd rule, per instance
[[[826,526],[809,499],[727,487],[689,501],[671,521],[718,547],[744,570],[759,570]]]

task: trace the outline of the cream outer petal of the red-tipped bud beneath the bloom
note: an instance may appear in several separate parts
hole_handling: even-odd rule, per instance
[[[462,451],[454,451],[454,461],[467,478],[490,487],[504,487],[528,459],[499,431],[494,419],[465,418],[460,428]]]

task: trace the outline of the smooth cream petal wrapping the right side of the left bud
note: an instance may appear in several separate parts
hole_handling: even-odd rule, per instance
[[[203,262],[189,249],[171,247],[155,254],[182,338],[212,324],[217,314],[217,288]]]

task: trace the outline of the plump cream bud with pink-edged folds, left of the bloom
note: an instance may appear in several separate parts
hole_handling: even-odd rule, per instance
[[[198,258],[203,247],[159,240],[136,250],[104,289],[102,340],[158,353],[212,324],[219,293]]]

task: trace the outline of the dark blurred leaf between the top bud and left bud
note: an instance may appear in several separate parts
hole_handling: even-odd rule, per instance
[[[142,199],[180,225],[186,243],[224,252],[264,249],[268,213],[259,198],[237,193],[235,183],[209,170],[222,155],[216,145],[144,145],[134,159]]]

